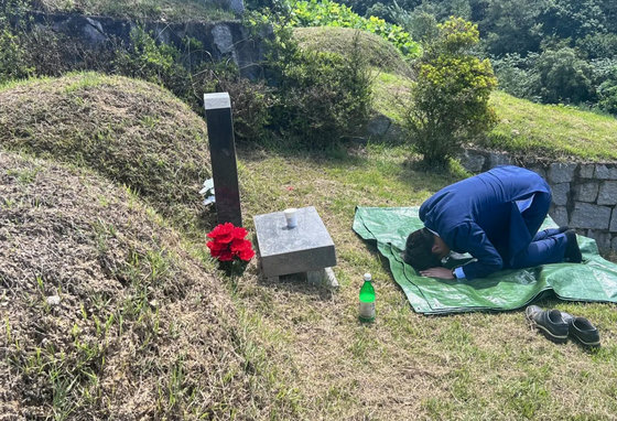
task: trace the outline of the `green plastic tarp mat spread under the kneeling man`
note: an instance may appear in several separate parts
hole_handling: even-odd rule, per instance
[[[583,265],[555,263],[501,270],[484,279],[456,281],[420,277],[400,257],[408,235],[422,228],[418,207],[357,207],[354,230],[390,262],[394,280],[419,313],[446,314],[519,309],[545,291],[563,300],[617,302],[617,265],[603,259],[596,241],[578,236]],[[556,227],[546,218],[542,228]]]

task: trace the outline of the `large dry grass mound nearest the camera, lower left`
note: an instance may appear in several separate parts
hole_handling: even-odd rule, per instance
[[[173,230],[98,176],[6,152],[0,168],[0,413],[218,419],[246,404],[229,296]]]

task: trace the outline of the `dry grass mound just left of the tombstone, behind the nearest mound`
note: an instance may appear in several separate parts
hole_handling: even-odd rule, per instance
[[[96,73],[0,88],[0,149],[95,169],[163,213],[198,206],[206,125],[155,85]]]

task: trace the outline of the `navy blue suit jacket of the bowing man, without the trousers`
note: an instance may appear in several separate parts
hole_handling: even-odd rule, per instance
[[[534,194],[549,195],[550,203],[551,190],[540,175],[498,166],[440,190],[422,204],[420,219],[452,250],[477,259],[463,268],[467,279],[481,278],[508,267],[531,242],[535,233],[529,231],[516,201]]]

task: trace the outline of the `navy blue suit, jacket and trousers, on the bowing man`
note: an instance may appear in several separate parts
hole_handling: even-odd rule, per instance
[[[521,212],[518,201],[532,198]],[[565,235],[538,233],[551,205],[551,188],[532,171],[498,166],[448,185],[420,207],[420,219],[457,252],[476,261],[465,278],[481,278],[502,268],[563,261]]]

